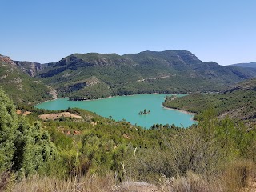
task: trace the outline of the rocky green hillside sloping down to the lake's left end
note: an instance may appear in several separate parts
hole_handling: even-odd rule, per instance
[[[49,86],[25,74],[9,57],[2,55],[0,86],[16,104],[33,104],[51,98]]]

